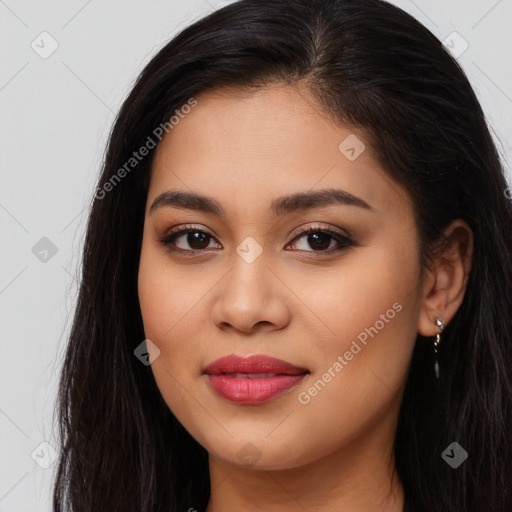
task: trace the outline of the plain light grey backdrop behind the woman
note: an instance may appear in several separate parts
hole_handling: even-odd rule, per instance
[[[0,0],[0,511],[51,510],[56,384],[115,114],[158,49],[227,3]],[[393,3],[454,41],[512,181],[512,1]]]

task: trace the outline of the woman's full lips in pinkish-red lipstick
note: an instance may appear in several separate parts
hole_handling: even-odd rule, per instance
[[[210,363],[204,368],[204,373],[213,391],[226,400],[235,403],[259,404],[296,386],[309,374],[309,371],[266,355],[250,357],[230,355]],[[247,377],[241,374],[246,374]],[[250,377],[249,374],[251,374]],[[257,374],[276,375],[265,375],[260,378]]]

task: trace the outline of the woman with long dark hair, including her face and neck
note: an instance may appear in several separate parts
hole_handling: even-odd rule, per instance
[[[457,62],[380,0],[242,0],[115,122],[54,509],[512,510],[512,209]]]

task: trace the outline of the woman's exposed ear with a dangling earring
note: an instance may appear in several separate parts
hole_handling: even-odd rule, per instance
[[[454,220],[444,231],[440,245],[422,285],[418,333],[435,336],[440,332],[436,318],[446,325],[462,304],[473,261],[473,232],[462,219]]]

